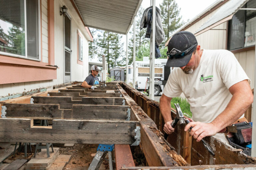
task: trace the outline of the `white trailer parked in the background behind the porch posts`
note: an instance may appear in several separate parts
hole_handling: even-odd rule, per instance
[[[154,95],[158,96],[163,91],[164,86],[159,84],[159,80],[164,78],[164,65],[167,59],[155,59],[155,88]],[[149,57],[143,57],[143,61],[136,61],[135,88],[138,91],[149,89]],[[128,78],[129,83],[133,83],[133,63],[129,65]]]

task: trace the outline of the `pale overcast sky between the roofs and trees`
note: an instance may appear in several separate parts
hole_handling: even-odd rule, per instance
[[[188,20],[195,18],[198,14],[206,10],[209,6],[219,0],[176,0],[180,8],[180,15],[182,20],[186,23]],[[156,7],[159,7],[163,0],[156,0]],[[143,0],[141,6],[146,9],[150,6],[150,0]],[[131,26],[130,29],[132,29]],[[131,35],[128,34],[128,40],[131,38]],[[123,35],[122,42],[124,42],[124,50],[126,50],[126,36]],[[95,59],[96,61],[97,59]]]

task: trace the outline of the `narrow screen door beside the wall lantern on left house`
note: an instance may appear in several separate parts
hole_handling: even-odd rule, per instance
[[[64,19],[64,58],[65,58],[65,62],[64,62],[64,82],[71,82],[71,21],[70,18],[66,15],[65,19]]]

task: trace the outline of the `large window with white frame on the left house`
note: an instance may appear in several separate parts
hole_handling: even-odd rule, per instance
[[[0,54],[39,60],[39,1],[0,1]]]

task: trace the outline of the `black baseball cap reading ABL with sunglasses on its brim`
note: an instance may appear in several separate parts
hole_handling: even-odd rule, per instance
[[[188,31],[174,34],[168,43],[166,66],[183,67],[187,65],[196,47],[197,41],[194,34]]]

